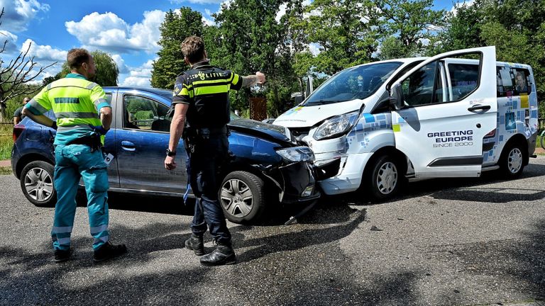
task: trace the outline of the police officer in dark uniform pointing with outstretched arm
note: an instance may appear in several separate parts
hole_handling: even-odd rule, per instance
[[[229,90],[263,84],[265,75],[257,72],[248,77],[239,77],[229,70],[211,66],[204,42],[197,36],[190,36],[182,42],[182,53],[191,69],[177,77],[175,82],[172,99],[175,113],[170,125],[165,168],[176,168],[176,148],[183,133],[189,153],[189,181],[197,197],[192,235],[185,246],[197,255],[204,255],[202,237],[208,225],[217,246],[210,254],[201,257],[202,265],[232,264],[236,262],[236,255],[218,201],[219,181],[216,178],[229,149],[226,128],[231,120]],[[187,130],[184,131],[186,118]]]

